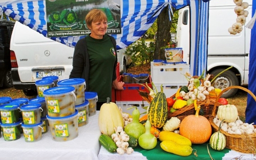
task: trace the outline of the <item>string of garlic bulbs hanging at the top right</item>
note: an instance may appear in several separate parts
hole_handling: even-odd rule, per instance
[[[243,30],[243,25],[245,24],[246,17],[249,13],[245,9],[248,8],[249,4],[247,2],[243,2],[243,0],[233,0],[233,2],[237,5],[234,7],[234,13],[237,14],[237,22],[233,23],[233,25],[228,29],[228,32],[231,35],[236,35]]]

